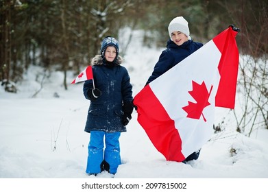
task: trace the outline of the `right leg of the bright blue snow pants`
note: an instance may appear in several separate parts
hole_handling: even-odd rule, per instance
[[[119,137],[121,132],[106,133],[104,159],[110,165],[110,173],[117,173],[117,168],[121,165]]]

